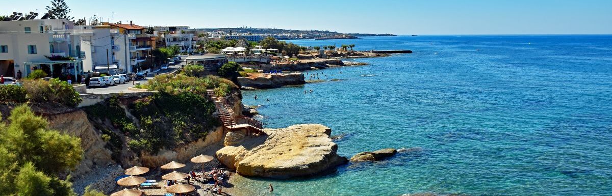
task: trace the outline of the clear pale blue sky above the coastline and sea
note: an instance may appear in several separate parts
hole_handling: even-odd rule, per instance
[[[8,1],[8,0],[0,0]],[[398,35],[612,34],[610,0],[65,0],[75,18],[140,26],[258,27]],[[46,12],[49,0],[12,1],[0,15]],[[112,21],[112,20],[111,20]]]

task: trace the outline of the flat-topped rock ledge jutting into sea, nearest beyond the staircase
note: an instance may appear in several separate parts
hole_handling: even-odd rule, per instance
[[[271,89],[282,87],[283,85],[299,85],[305,84],[303,73],[289,74],[257,74],[238,78],[238,82],[243,87],[253,87],[256,89]]]

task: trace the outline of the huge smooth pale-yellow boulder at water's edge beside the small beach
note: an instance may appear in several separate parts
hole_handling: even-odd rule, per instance
[[[245,176],[291,178],[310,176],[335,169],[348,160],[339,156],[338,145],[329,138],[331,129],[323,125],[294,125],[266,129],[265,141],[217,151],[219,161]],[[254,147],[250,147],[254,146]]]

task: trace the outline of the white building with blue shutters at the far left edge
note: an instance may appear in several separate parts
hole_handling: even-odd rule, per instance
[[[81,36],[72,29],[72,21],[62,19],[0,21],[0,74],[17,77],[20,73],[24,78],[41,68],[52,76],[78,78],[88,55],[81,47]]]

